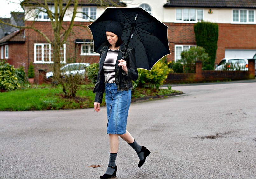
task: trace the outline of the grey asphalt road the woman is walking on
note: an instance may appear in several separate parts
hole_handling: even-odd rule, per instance
[[[138,168],[120,139],[116,179],[256,178],[256,83],[173,89],[185,94],[131,104],[127,130],[151,154]],[[0,112],[0,178],[99,178],[106,125],[105,107]]]

